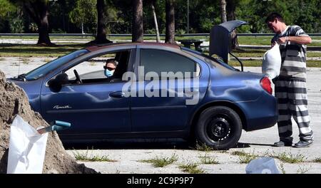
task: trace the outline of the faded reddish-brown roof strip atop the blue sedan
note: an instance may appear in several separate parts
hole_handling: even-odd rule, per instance
[[[155,46],[155,47],[170,47],[175,49],[180,49],[180,46],[178,44],[172,44],[172,43],[156,43],[156,42],[142,42],[142,43],[103,43],[103,44],[97,44],[94,46],[88,46],[86,50],[88,51],[98,51],[103,48],[111,48],[115,46]]]

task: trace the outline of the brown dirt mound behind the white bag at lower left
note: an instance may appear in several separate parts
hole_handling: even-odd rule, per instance
[[[6,76],[0,71],[0,174],[6,173],[10,125],[17,114],[33,127],[49,126],[39,113],[31,110],[24,90],[14,83],[6,82]],[[84,164],[77,164],[64,150],[57,133],[49,132],[43,173],[97,172]]]

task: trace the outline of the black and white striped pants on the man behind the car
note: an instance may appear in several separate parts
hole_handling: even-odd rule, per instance
[[[312,140],[310,116],[307,110],[307,87],[304,80],[278,79],[275,82],[275,97],[279,117],[277,127],[282,140],[292,135],[291,117],[297,123],[300,140]],[[292,138],[292,137],[291,137]]]

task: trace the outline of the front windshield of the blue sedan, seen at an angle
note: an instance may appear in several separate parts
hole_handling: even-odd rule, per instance
[[[85,53],[88,53],[86,49],[82,49],[79,51],[74,51],[72,53],[68,53],[66,56],[62,56],[61,58],[56,58],[54,61],[50,61],[49,63],[44,64],[43,66],[40,66],[39,68],[34,69],[33,71],[30,71],[29,73],[26,73],[22,75],[26,80],[36,80],[38,78],[41,78],[42,76],[50,73],[54,69],[58,68],[59,66],[63,65],[64,63],[67,63],[68,61],[71,61],[79,56],[82,56]]]

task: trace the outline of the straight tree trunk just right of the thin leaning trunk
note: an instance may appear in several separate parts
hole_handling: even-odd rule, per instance
[[[175,11],[174,11],[174,1],[166,0],[166,36],[165,43],[175,43]]]

